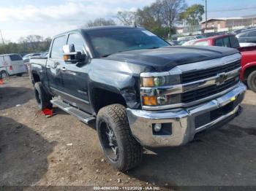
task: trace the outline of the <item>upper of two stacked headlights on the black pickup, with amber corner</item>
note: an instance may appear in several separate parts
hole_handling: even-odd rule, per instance
[[[178,85],[181,83],[179,74],[162,77],[141,77],[142,87],[160,87],[168,85]]]

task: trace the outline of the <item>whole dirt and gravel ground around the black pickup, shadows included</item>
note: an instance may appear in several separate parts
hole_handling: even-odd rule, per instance
[[[40,114],[29,77],[0,85],[0,185],[256,186],[256,94],[225,127],[184,147],[146,151],[119,173],[106,163],[94,127],[65,112]]]

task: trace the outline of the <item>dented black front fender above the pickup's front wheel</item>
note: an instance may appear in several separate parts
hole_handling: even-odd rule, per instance
[[[90,66],[88,87],[91,103],[94,88],[99,88],[121,95],[131,109],[140,107],[140,73],[145,66],[105,59],[93,59]]]

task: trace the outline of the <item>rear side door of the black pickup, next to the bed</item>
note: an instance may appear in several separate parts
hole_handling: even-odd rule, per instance
[[[66,44],[67,36],[57,36],[51,44],[50,56],[46,63],[46,71],[50,90],[61,95],[64,91],[61,70],[64,68],[64,58],[62,47]]]

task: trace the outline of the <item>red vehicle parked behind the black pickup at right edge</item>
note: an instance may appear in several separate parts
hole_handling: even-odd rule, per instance
[[[233,34],[197,39],[191,44],[197,46],[233,47],[238,49],[242,55],[241,81],[246,82],[249,88],[256,93],[256,46],[240,47],[238,39]]]

